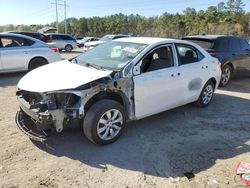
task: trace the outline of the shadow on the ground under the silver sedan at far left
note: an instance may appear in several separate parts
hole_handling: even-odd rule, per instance
[[[27,72],[0,74],[0,87],[16,86]]]

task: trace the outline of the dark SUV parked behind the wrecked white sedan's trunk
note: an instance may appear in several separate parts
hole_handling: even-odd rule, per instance
[[[194,42],[221,62],[220,86],[226,86],[234,74],[250,75],[250,45],[237,36],[197,35],[183,40]]]

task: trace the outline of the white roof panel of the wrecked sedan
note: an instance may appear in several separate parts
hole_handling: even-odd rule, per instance
[[[187,43],[183,40],[178,39],[170,39],[170,38],[156,38],[156,37],[128,37],[128,38],[119,38],[115,39],[115,41],[121,41],[121,42],[131,42],[131,43],[141,43],[141,44],[154,44],[159,42],[181,42],[181,43]]]

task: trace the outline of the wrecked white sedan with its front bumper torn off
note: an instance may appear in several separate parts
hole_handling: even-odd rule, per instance
[[[191,102],[207,106],[220,77],[218,60],[193,43],[122,38],[26,74],[16,123],[38,141],[81,126],[92,142],[109,144],[128,121]]]

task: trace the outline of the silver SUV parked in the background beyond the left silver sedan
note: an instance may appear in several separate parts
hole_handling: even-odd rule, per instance
[[[68,34],[49,33],[47,36],[47,42],[54,43],[59,50],[65,50],[66,52],[72,51],[77,48],[76,39]]]

